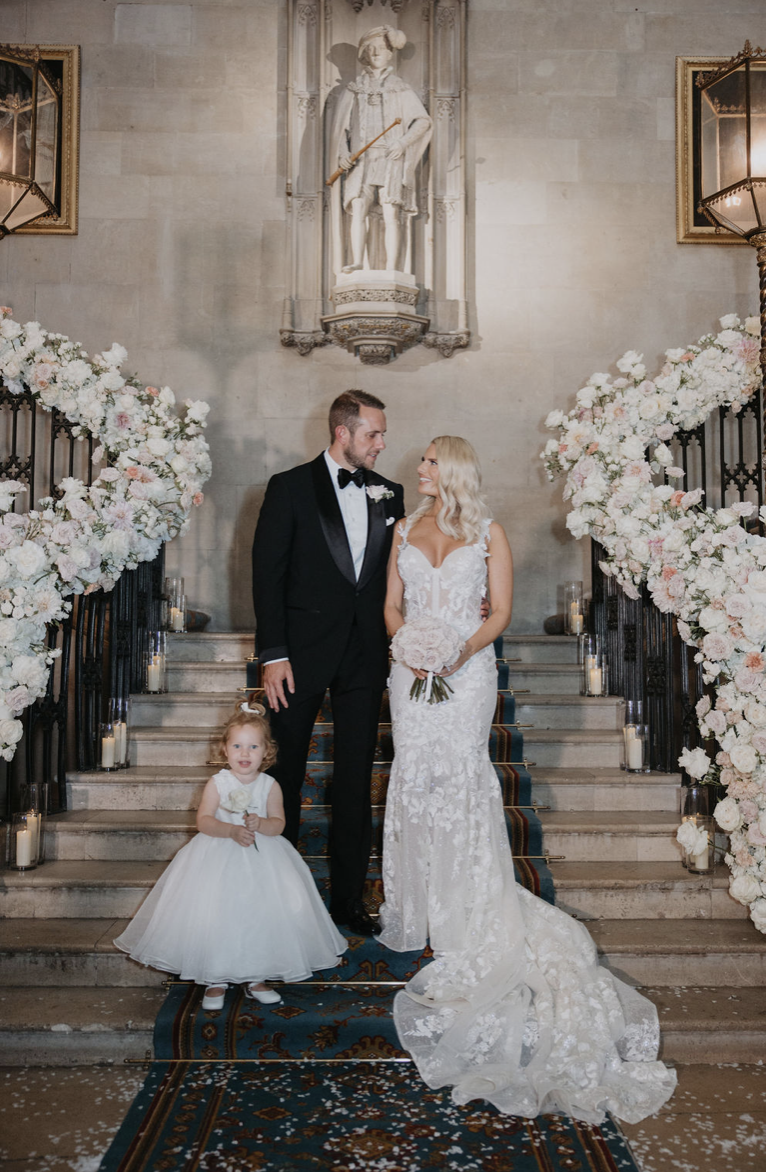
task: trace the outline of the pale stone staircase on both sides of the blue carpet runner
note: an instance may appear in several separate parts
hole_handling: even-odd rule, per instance
[[[0,872],[0,1045],[6,1064],[142,1058],[164,975],[114,945],[194,832],[211,735],[245,682],[249,634],[170,636],[170,691],[132,699],[132,766],[71,774],[48,820],[49,861]],[[727,871],[689,875],[675,843],[677,775],[620,769],[615,697],[584,699],[574,640],[505,640],[515,720],[559,906],[587,920],[618,975],[644,987],[677,1062],[755,1062],[766,938],[727,894]],[[685,986],[679,994],[679,986]]]

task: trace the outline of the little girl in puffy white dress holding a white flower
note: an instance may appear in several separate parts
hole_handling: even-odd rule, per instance
[[[265,979],[301,981],[337,963],[337,931],[297,851],[282,838],[282,792],[265,709],[238,706],[220,738],[228,769],[211,777],[199,833],[182,847],[115,943],[134,960],[204,984],[203,1009],[223,1009],[228,983],[262,1004]]]

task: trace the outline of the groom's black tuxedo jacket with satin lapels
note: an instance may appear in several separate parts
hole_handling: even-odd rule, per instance
[[[287,656],[301,691],[323,690],[335,675],[356,624],[364,648],[360,686],[383,687],[388,638],[383,621],[385,571],[404,491],[376,472],[369,485],[368,532],[358,581],[324,455],[268,482],[253,541],[253,605],[262,661]]]

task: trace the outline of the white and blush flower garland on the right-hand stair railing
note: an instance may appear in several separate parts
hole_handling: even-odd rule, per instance
[[[631,598],[647,581],[716,684],[714,703],[705,696],[697,716],[719,751],[711,761],[704,749],[685,749],[679,764],[725,786],[714,817],[731,836],[730,891],[766,932],[766,539],[741,524],[752,503],[705,509],[699,489],[685,491],[668,448],[714,408],[741,410],[758,388],[759,319],[743,325],[729,314],[720,326],[697,346],[666,350],[654,379],[634,350],[617,362],[621,377],[594,374],[574,410],[548,415],[560,438],[542,458],[550,479],[567,477],[568,529],[603,545],[601,568]],[[656,484],[662,472],[673,484]]]

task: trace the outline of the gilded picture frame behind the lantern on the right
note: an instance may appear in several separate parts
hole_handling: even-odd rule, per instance
[[[740,236],[714,227],[698,211],[700,73],[718,69],[731,57],[676,57],[676,240],[678,244],[747,244]]]

